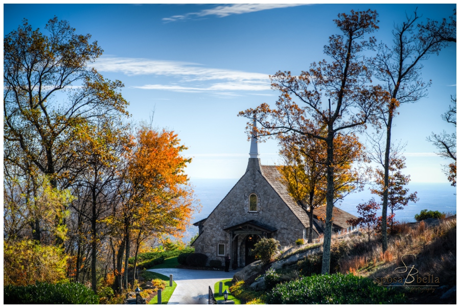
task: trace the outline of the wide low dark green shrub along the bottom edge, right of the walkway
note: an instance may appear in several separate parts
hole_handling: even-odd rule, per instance
[[[267,304],[403,304],[396,288],[378,287],[352,274],[314,275],[278,285],[266,295]]]

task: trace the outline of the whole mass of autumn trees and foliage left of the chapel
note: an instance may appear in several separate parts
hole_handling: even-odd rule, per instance
[[[44,30],[24,20],[4,38],[4,282],[67,277],[97,292],[105,279],[121,292],[128,258],[190,222],[191,159],[174,132],[127,122],[89,34],[57,17]]]

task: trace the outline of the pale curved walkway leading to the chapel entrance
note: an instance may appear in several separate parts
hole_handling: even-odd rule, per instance
[[[233,278],[238,270],[201,271],[187,269],[152,269],[151,272],[165,276],[173,275],[177,287],[168,304],[208,304],[209,287],[214,291],[214,283]]]

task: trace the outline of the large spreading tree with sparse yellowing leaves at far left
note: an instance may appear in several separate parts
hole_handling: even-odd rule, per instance
[[[99,116],[127,114],[120,81],[106,81],[88,64],[102,50],[57,17],[50,34],[24,24],[4,38],[4,138],[17,145],[53,187],[79,174],[75,128]],[[59,103],[57,103],[59,102]]]

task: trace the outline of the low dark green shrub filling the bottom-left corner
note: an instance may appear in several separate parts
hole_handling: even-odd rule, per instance
[[[4,286],[4,304],[99,304],[94,292],[81,283],[37,282],[28,286]]]

